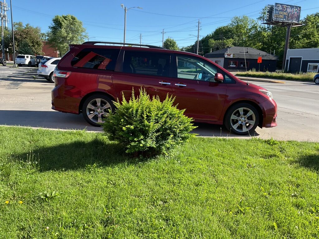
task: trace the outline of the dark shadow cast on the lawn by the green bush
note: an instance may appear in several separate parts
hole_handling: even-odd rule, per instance
[[[20,161],[26,161],[27,154],[30,155],[30,152],[15,156]],[[53,147],[38,148],[33,150],[33,154],[36,160],[40,158],[39,167],[41,171],[77,170],[86,168],[86,165],[93,165],[94,163],[98,166],[108,166],[138,161],[138,159],[130,158],[119,144],[105,142],[100,139],[94,139],[89,142],[75,141]]]

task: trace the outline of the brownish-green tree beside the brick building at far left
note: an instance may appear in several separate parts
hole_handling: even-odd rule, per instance
[[[19,54],[42,54],[43,44],[41,42],[40,27],[33,27],[30,24],[25,26],[22,22],[13,24],[15,48]],[[5,48],[12,53],[12,34],[4,34]],[[8,46],[8,47],[6,47]]]

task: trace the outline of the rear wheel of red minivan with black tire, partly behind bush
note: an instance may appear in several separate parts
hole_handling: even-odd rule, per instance
[[[99,107],[96,99],[100,99],[100,102],[101,102],[100,106],[102,106],[102,108]],[[95,107],[94,109],[88,108],[88,105],[90,102],[91,102],[91,105]],[[107,107],[104,108],[104,106],[107,106]],[[100,121],[103,122],[103,120],[102,120],[103,115],[104,115],[104,117],[106,117],[107,112],[113,112],[114,109],[115,109],[115,106],[113,104],[113,99],[111,99],[108,96],[103,95],[103,94],[95,94],[95,95],[89,96],[84,101],[83,106],[82,106],[82,114],[83,114],[83,117],[86,120],[86,122],[88,122],[90,125],[100,127],[101,124],[98,122],[99,118],[100,118]],[[103,113],[101,113],[101,112],[103,112]],[[88,115],[93,115],[93,117],[90,119]]]

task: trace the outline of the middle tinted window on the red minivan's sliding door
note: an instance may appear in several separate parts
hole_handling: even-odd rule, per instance
[[[123,72],[168,77],[170,58],[165,53],[125,51]]]

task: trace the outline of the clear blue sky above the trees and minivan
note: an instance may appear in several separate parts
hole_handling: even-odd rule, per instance
[[[10,1],[7,0],[8,4]],[[234,16],[247,15],[256,19],[269,0],[228,0],[228,1],[117,1],[117,0],[72,0],[72,1],[25,1],[12,0],[13,21],[41,27],[42,32],[55,15],[71,14],[83,21],[90,40],[123,41],[124,10],[127,8],[126,42],[139,43],[140,33],[143,44],[161,45],[162,30],[167,37],[177,41],[179,47],[196,41],[197,22],[200,18],[200,37],[226,25]],[[301,6],[301,18],[319,12],[319,0],[290,0],[286,3]],[[10,7],[10,6],[9,6]],[[168,16],[171,15],[171,16]],[[10,11],[8,12],[10,17]],[[11,25],[11,23],[10,23]]]

